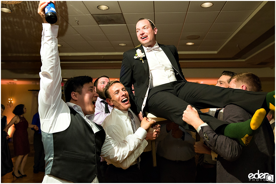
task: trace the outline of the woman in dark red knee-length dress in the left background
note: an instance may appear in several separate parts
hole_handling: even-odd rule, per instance
[[[36,125],[31,125],[28,123],[28,121],[25,119],[23,114],[26,113],[26,107],[23,104],[17,105],[13,113],[15,116],[10,121],[10,123],[5,127],[5,131],[8,132],[8,129],[11,125],[14,124],[15,132],[13,134],[13,148],[14,148],[14,154],[17,156],[17,159],[15,161],[14,170],[13,170],[13,177],[16,178],[22,178],[24,176],[27,176],[24,174],[24,167],[25,163],[28,158],[28,154],[30,152],[30,145],[29,145],[29,138],[28,138],[28,131],[27,128],[34,128],[35,130],[38,130],[38,127]],[[21,163],[20,169],[19,165]]]

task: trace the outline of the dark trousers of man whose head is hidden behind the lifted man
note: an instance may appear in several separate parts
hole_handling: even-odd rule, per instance
[[[168,160],[158,157],[161,183],[194,183],[196,163],[194,157],[186,161]]]

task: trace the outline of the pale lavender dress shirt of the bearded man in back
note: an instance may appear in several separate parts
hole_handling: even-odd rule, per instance
[[[102,125],[102,122],[104,119],[110,114],[110,113],[105,113],[105,104],[102,103],[103,99],[98,97],[96,101],[96,107],[95,107],[95,117],[94,117],[94,122],[97,123],[98,125]],[[105,101],[106,102],[106,101]],[[111,105],[108,105],[109,112],[112,111],[113,107]]]

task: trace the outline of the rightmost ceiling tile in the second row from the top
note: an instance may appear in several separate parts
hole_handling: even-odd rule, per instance
[[[220,12],[215,23],[225,23],[225,22],[243,22],[252,13],[252,10],[248,11],[224,11]]]

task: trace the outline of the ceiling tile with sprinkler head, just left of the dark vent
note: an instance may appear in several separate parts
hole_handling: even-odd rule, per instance
[[[98,25],[92,15],[68,15],[63,17],[71,26],[79,25]],[[77,23],[76,20],[79,22]]]

